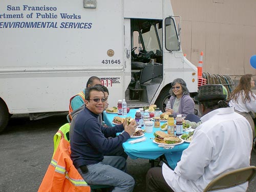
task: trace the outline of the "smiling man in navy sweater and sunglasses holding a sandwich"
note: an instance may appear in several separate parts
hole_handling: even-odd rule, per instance
[[[113,186],[116,191],[133,191],[135,181],[125,173],[126,160],[120,156],[103,156],[118,148],[135,132],[136,123],[105,128],[98,122],[105,107],[102,86],[86,89],[86,107],[77,115],[70,137],[73,164],[88,184]],[[109,138],[122,132],[115,138]]]

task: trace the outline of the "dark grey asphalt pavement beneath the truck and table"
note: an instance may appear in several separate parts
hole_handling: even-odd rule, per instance
[[[0,135],[0,191],[37,191],[53,154],[53,136],[67,123],[66,114],[30,121],[27,115],[13,116]],[[156,161],[157,164],[157,161]],[[256,165],[256,153],[251,153]],[[145,191],[145,175],[151,164],[147,159],[127,159],[127,172],[136,181],[135,192]],[[248,192],[256,191],[256,179]]]

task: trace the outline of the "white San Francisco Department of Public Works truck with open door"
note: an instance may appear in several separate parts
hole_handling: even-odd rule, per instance
[[[1,0],[0,132],[12,114],[68,111],[91,76],[110,106],[163,110],[176,78],[197,92],[175,18],[170,0]]]

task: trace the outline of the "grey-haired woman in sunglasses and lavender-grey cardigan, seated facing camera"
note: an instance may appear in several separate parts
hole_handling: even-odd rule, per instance
[[[170,109],[166,108],[176,118],[177,114],[193,114],[195,109],[195,103],[192,98],[190,98],[189,91],[186,87],[186,83],[183,79],[175,79],[172,82],[172,89],[170,89],[169,99]]]

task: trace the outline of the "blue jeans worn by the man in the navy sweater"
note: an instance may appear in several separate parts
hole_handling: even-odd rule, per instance
[[[113,191],[133,191],[135,181],[132,176],[124,173],[126,171],[126,160],[123,157],[104,156],[97,164],[87,165],[88,172],[79,174],[88,184],[111,185]]]

